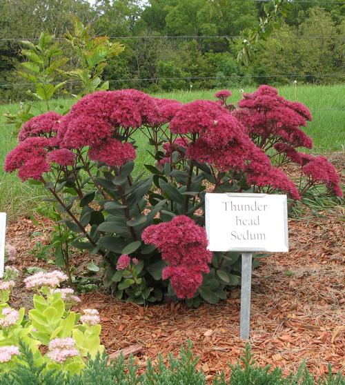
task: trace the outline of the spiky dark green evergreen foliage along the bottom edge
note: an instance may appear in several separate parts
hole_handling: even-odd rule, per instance
[[[190,344],[181,348],[179,357],[164,358],[159,355],[154,365],[148,361],[144,373],[138,374],[138,366],[133,357],[126,360],[119,357],[108,363],[108,357],[97,354],[88,362],[79,374],[63,373],[37,366],[32,352],[21,344],[20,361],[8,373],[0,373],[0,385],[205,385],[206,379],[201,371],[197,371],[198,357],[193,355]],[[305,365],[299,367],[296,374],[283,377],[281,369],[266,366],[262,368],[253,361],[253,355],[247,344],[241,364],[232,367],[231,378],[225,379],[224,374],[216,376],[213,385],[344,385],[345,378],[341,373],[332,374],[331,366],[328,375],[313,379]]]

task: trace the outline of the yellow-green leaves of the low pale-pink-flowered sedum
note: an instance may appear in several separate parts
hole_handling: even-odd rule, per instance
[[[7,275],[1,282],[2,285],[12,283],[9,280],[12,277],[9,275],[10,270],[8,269]],[[15,270],[12,269],[11,272],[13,273]],[[0,373],[14,370],[14,373],[17,373],[14,376],[19,376],[20,373],[28,371],[30,372],[28,379],[37,378],[42,381],[39,384],[46,384],[45,379],[51,377],[49,371],[79,373],[85,366],[83,357],[95,358],[97,353],[103,352],[104,348],[101,346],[99,338],[101,325],[84,321],[79,313],[70,310],[72,304],[75,303],[75,297],[63,296],[63,292],[55,290],[56,288],[57,283],[34,287],[36,290],[33,297],[34,307],[28,311],[28,317],[24,317],[26,313],[24,308],[18,312],[10,308],[8,304],[10,288],[0,289],[0,317],[3,318],[0,326],[0,346],[21,346],[27,358],[23,363],[21,355],[13,355],[10,361],[0,362]],[[14,318],[17,317],[17,320],[13,316],[6,320],[5,309],[17,314],[14,316]],[[77,355],[62,359],[61,363],[56,362],[50,358],[49,353],[46,354],[46,350],[52,340],[66,338],[73,339]],[[41,379],[41,375],[44,380]],[[8,383],[10,384],[10,382]]]

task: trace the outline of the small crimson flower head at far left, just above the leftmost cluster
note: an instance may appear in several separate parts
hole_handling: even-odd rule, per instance
[[[57,112],[52,111],[33,117],[21,128],[18,140],[23,141],[28,137],[50,137],[51,134],[56,135],[61,117]]]

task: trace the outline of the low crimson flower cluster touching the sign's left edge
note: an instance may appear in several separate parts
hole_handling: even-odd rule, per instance
[[[178,215],[169,222],[148,226],[141,235],[146,244],[155,244],[161,258],[168,262],[162,272],[179,298],[191,298],[202,283],[202,274],[210,271],[212,253],[204,228],[193,219]]]

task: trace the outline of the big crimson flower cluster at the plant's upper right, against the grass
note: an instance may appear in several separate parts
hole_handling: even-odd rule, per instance
[[[313,119],[311,112],[302,103],[279,97],[275,88],[260,86],[255,92],[244,94],[238,107],[240,109],[233,115],[246,126],[250,137],[259,137],[260,148],[265,148],[277,137],[293,147],[313,146],[311,138],[299,128]]]

